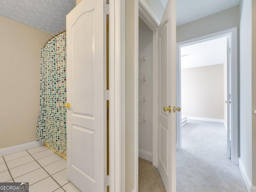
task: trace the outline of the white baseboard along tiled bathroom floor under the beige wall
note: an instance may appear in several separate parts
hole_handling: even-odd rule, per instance
[[[13,153],[17,153],[17,152],[21,152],[21,151],[24,151],[24,150],[32,149],[32,148],[39,147],[39,146],[42,146],[42,145],[44,145],[43,142],[31,141],[31,142],[23,143],[23,144],[20,144],[20,145],[15,145],[15,146],[12,146],[12,147],[3,148],[3,149],[0,149],[0,157],[5,156],[5,155],[10,155],[10,154],[13,154]]]

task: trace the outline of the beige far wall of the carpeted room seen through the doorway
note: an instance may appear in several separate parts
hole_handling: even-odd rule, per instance
[[[181,70],[182,115],[222,119],[223,64]]]

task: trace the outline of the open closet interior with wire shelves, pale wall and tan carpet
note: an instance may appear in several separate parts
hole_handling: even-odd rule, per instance
[[[138,190],[165,191],[153,166],[154,92],[153,31],[139,18],[138,22]]]

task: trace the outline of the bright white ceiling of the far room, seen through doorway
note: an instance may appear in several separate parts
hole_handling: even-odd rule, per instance
[[[181,68],[223,64],[227,54],[227,38],[217,38],[180,48]]]

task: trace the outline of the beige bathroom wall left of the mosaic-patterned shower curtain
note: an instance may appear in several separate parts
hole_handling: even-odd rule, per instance
[[[0,149],[36,139],[40,48],[51,34],[0,16]]]

